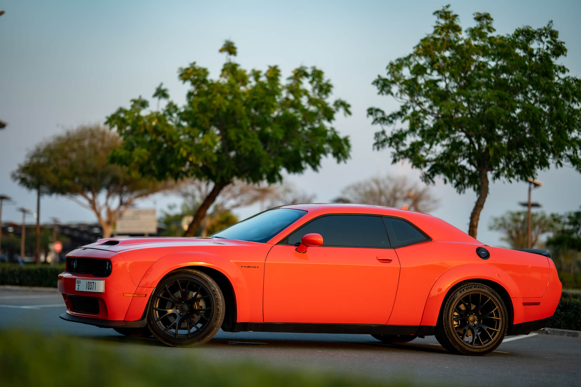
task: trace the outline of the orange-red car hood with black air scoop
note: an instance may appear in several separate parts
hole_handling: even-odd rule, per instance
[[[192,238],[164,238],[164,237],[142,237],[142,238],[106,238],[98,239],[93,243],[81,246],[79,249],[99,249],[112,252],[123,250],[160,248],[160,247],[196,247],[196,246],[219,246],[219,245],[244,245],[247,241],[236,241],[235,239],[213,238],[210,236],[194,236]],[[76,250],[75,250],[76,251]],[[72,253],[72,252],[71,252]],[[70,254],[70,253],[69,253]]]

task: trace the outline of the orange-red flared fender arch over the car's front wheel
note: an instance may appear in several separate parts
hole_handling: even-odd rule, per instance
[[[143,288],[155,288],[170,271],[188,266],[205,266],[224,274],[234,291],[236,316],[238,321],[248,321],[249,290],[245,279],[232,261],[223,256],[206,252],[171,253],[161,257],[152,264],[139,282]]]

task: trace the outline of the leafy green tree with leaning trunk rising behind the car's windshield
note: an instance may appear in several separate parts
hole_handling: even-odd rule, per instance
[[[112,160],[157,180],[195,178],[212,189],[185,232],[192,236],[218,194],[235,180],[247,183],[282,180],[282,171],[318,170],[321,159],[349,157],[349,139],[331,126],[335,114],[350,114],[341,99],[328,101],[332,84],[315,67],[297,67],[286,83],[281,71],[242,69],[232,62],[236,46],[226,41],[220,77],[195,62],[181,68],[189,84],[186,103],[169,101],[161,111],[144,112],[149,103],[133,99],[107,117],[124,138]]]

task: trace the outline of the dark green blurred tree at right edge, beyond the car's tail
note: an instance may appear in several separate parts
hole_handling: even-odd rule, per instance
[[[581,210],[566,214],[553,214],[556,225],[554,234],[547,239],[547,245],[555,250],[555,255],[564,267],[569,260],[569,273],[575,271],[576,257],[581,253]]]

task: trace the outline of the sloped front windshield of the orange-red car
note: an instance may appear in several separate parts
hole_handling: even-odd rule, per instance
[[[303,210],[275,208],[249,217],[211,236],[264,243],[306,213]]]

